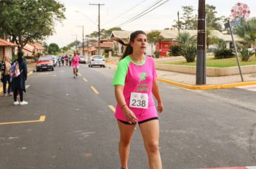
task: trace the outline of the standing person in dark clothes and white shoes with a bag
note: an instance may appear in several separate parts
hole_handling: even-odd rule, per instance
[[[14,60],[14,62],[18,62],[19,64],[19,76],[12,78],[12,91],[14,92],[14,105],[27,105],[28,102],[23,100],[23,92],[26,92],[26,84],[27,80],[27,64],[23,60],[23,52],[18,52],[18,59]],[[19,92],[19,100],[17,101],[17,95]]]

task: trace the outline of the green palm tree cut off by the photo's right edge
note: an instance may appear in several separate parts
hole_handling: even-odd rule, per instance
[[[246,21],[235,29],[236,34],[246,40],[253,48],[256,48],[256,18]]]

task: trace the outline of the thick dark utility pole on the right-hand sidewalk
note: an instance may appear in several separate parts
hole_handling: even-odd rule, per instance
[[[198,0],[196,84],[206,84],[206,1]]]

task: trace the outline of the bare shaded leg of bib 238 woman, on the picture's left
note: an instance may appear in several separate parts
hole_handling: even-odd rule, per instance
[[[132,141],[132,133],[134,131],[135,125],[126,125],[119,120],[117,120],[119,125],[120,140],[119,140],[119,156],[121,160],[121,165],[127,169],[127,163],[129,158],[129,146]]]

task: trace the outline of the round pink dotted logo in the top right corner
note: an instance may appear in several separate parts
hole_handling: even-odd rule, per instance
[[[231,9],[231,14],[234,19],[242,18],[242,17],[244,17],[244,19],[247,19],[249,18],[250,13],[251,11],[249,6],[247,6],[247,4],[240,3],[240,2],[237,3],[235,6],[233,6]]]

